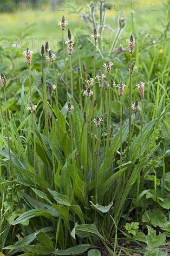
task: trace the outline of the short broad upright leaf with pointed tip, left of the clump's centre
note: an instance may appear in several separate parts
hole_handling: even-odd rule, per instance
[[[70,203],[72,202],[73,190],[70,175],[67,171],[67,162],[65,162],[60,175],[60,193],[67,195]]]

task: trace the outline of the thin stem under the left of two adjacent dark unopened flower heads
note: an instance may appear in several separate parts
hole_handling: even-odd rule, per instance
[[[42,77],[43,77],[43,101],[44,101],[44,116],[45,116],[45,135],[48,136],[48,120],[47,120],[47,96],[46,96],[46,78],[44,78],[43,70],[43,55],[41,56],[41,68],[42,68]]]

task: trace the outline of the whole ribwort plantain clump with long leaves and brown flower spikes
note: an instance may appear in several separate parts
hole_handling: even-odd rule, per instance
[[[104,1],[100,2],[104,7]],[[144,82],[139,81],[137,84],[141,98],[140,108],[139,95],[133,88],[132,80],[132,74],[135,72],[135,61],[132,61],[135,40],[131,35],[129,40],[130,74],[129,82],[125,87],[124,76],[119,78],[116,76],[118,68],[120,69],[116,67],[118,58],[111,58],[114,46],[112,45],[110,52],[104,53],[103,58],[100,58],[99,54],[101,54],[100,50],[103,45],[99,46],[97,40],[100,38],[99,33],[101,36],[103,34],[102,24],[105,23],[106,12],[102,13],[99,7],[99,13],[98,22],[92,14],[93,34],[91,38],[94,42],[89,35],[90,42],[94,44],[92,49],[78,50],[78,46],[76,44],[74,46],[75,53],[78,50],[79,53],[83,54],[85,51],[85,54],[89,54],[90,57],[85,59],[81,57],[81,54],[78,58],[76,54],[72,54],[74,42],[70,29],[67,33],[69,41],[66,57],[64,30],[68,22],[65,21],[64,15],[62,16],[59,25],[62,30],[63,52],[61,55],[63,57],[60,60],[62,62],[64,60],[64,66],[59,68],[60,52],[55,52],[54,49],[52,53],[46,42],[45,47],[41,47],[41,63],[39,63],[41,72],[36,74],[36,78],[40,78],[43,94],[38,86],[35,86],[36,98],[32,95],[33,84],[30,69],[32,51],[27,48],[24,53],[29,66],[30,78],[29,93],[26,91],[25,94],[30,95],[31,115],[24,121],[19,119],[15,122],[11,119],[10,140],[7,122],[4,125],[7,142],[1,135],[4,143],[1,146],[3,150],[0,162],[3,164],[3,169],[9,166],[12,170],[10,177],[7,176],[7,182],[16,178],[13,182],[22,188],[18,196],[20,214],[17,215],[15,212],[13,218],[11,216],[12,221],[7,218],[12,230],[19,229],[20,235],[17,237],[20,241],[15,239],[15,244],[3,245],[4,250],[9,250],[8,256],[21,251],[33,255],[83,255],[89,249],[88,255],[93,256],[94,252],[96,255],[101,255],[99,249],[103,247],[113,256],[116,255],[119,247],[124,249],[124,246],[119,244],[120,240],[135,241],[143,248],[142,242],[148,243],[147,237],[141,231],[142,225],[139,231],[138,224],[134,224],[136,219],[142,224],[144,217],[146,219],[154,215],[149,212],[150,215],[144,216],[146,209],[139,204],[146,191],[150,193],[150,198],[153,194],[150,188],[142,190],[144,184],[141,186],[140,175],[143,173],[144,177],[147,176],[145,173],[149,170],[148,166],[156,168],[155,162],[158,164],[162,161],[160,159],[165,157],[163,152],[159,159],[160,162],[158,159],[152,159],[158,152],[161,141],[159,139],[154,141],[154,138],[148,140],[148,138],[153,129],[156,129],[154,136],[158,138],[157,127],[163,125],[162,120],[165,120],[165,115],[168,113],[168,105],[154,120],[144,120]],[[124,27],[125,20],[119,18],[117,36],[120,36]],[[43,65],[45,53],[46,64]],[[106,60],[104,64],[103,59]],[[82,75],[80,65],[83,70]],[[128,69],[125,71],[119,74],[126,74],[127,78]],[[61,81],[60,78],[62,78]],[[4,87],[7,115],[6,79],[3,73],[1,73],[1,81]],[[66,90],[63,84],[66,85]],[[118,85],[115,86],[115,84]],[[48,94],[46,85],[48,85]],[[69,89],[71,94],[69,94]],[[65,91],[66,95],[63,93]],[[61,97],[63,94],[65,104]],[[37,107],[32,103],[33,96]],[[134,104],[131,104],[133,98],[137,99]],[[41,119],[43,112],[44,122]],[[13,115],[15,117],[15,113]],[[32,125],[30,122],[26,123],[30,117]],[[27,140],[30,132],[33,136]],[[7,145],[9,160],[5,155]],[[28,148],[33,149],[33,154]],[[29,161],[31,155],[33,155],[33,161]],[[152,207],[148,211],[154,209],[156,205],[161,207],[165,199],[162,193],[159,202],[156,193],[157,184],[161,179],[157,182],[158,175],[155,170],[154,174],[155,194]],[[164,169],[163,174],[164,182],[166,182]],[[148,177],[150,182],[153,181],[153,176]],[[3,181],[4,184],[7,183],[5,178]],[[136,195],[134,191],[137,191]],[[4,204],[6,199],[8,200],[8,195],[4,192],[2,209],[6,207]],[[142,208],[141,214],[138,212],[139,207]],[[9,213],[8,208],[6,211]],[[26,226],[22,239],[20,236],[23,230],[18,224]],[[130,225],[129,229],[126,229],[129,227],[127,224]],[[134,230],[139,232],[136,233]],[[0,231],[2,232],[2,228]],[[143,249],[143,252],[145,253],[146,250]]]

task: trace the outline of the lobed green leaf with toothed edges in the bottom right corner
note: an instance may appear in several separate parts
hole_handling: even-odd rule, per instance
[[[156,236],[156,230],[152,229],[150,226],[147,225],[148,228],[148,235],[146,236],[147,239],[147,246],[148,250],[153,250],[158,248],[160,245],[164,245],[166,242],[166,237],[163,234],[159,234]]]

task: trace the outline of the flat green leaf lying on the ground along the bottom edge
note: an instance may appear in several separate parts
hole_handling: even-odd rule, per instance
[[[75,255],[75,254],[84,253],[86,250],[92,247],[94,247],[92,244],[85,243],[85,244],[79,244],[79,245],[73,246],[66,250],[54,251],[53,253],[57,255]]]

